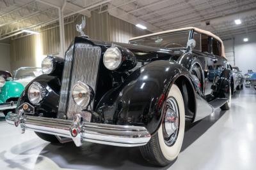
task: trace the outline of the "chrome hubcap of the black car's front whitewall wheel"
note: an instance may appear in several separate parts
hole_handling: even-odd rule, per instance
[[[179,132],[179,107],[177,101],[173,97],[169,97],[164,108],[164,142],[166,145],[172,146]]]

